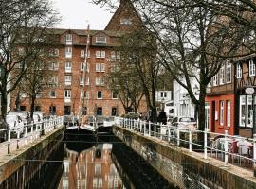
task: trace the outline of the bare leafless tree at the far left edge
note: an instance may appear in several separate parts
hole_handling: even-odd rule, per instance
[[[5,118],[7,96],[41,54],[46,27],[58,21],[47,0],[3,0],[0,11],[1,112]],[[18,69],[17,69],[18,68]]]

